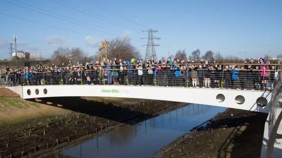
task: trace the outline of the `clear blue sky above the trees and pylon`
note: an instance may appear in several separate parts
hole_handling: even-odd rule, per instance
[[[56,14],[70,17],[79,20],[79,22],[65,17],[60,18],[86,27],[40,14],[5,1],[56,17],[60,17]],[[5,1],[0,0],[0,59],[8,58],[8,43],[13,42],[14,34],[18,35],[18,50],[42,53],[46,54],[46,57],[50,56],[53,50],[59,46],[81,47],[86,53],[94,55],[97,46],[101,44],[103,39],[110,40],[118,36],[130,37],[133,45],[144,56],[146,47],[142,47],[142,45],[146,44],[147,41],[146,39],[140,40],[140,38],[147,36],[145,32],[141,31],[148,28],[158,30],[154,35],[161,38],[155,41],[155,43],[160,44],[156,47],[158,57],[167,57],[168,52],[175,54],[179,49],[185,49],[187,54],[190,55],[197,48],[201,50],[202,54],[207,50],[212,50],[220,52],[224,56],[234,55],[240,58],[258,58],[265,54],[276,57],[277,54],[282,54],[281,0],[55,0],[68,6],[72,6],[71,4],[77,5],[79,8],[77,6],[72,7],[81,12],[53,0]],[[110,12],[117,14],[101,9],[105,7],[110,9]],[[43,26],[3,14],[82,34]]]

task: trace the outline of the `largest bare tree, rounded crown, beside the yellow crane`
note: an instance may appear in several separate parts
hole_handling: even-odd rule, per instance
[[[104,51],[101,51],[104,56]],[[115,38],[108,44],[108,54],[107,57],[111,60],[114,58],[130,60],[131,58],[140,58],[140,52],[131,43],[128,37]]]

